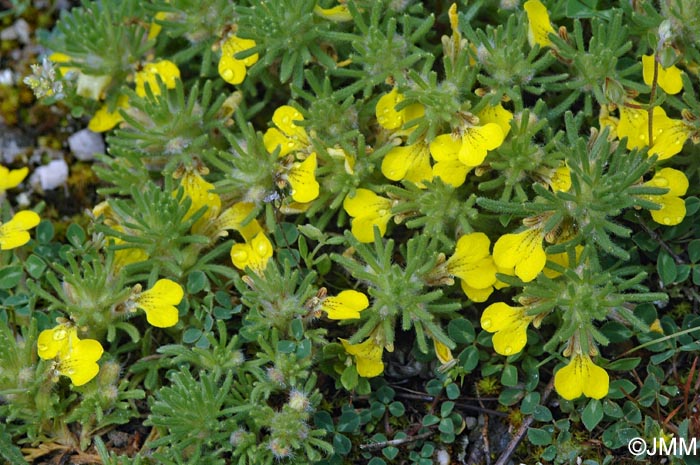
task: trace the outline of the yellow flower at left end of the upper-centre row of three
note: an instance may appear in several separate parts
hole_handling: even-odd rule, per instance
[[[405,179],[423,187],[421,181],[433,177],[430,166],[430,149],[425,142],[394,147],[382,160],[382,174],[392,181]]]

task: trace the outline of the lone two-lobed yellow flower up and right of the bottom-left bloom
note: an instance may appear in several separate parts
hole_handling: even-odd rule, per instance
[[[175,326],[178,320],[176,305],[182,301],[182,287],[169,279],[159,279],[155,285],[134,298],[134,304],[146,312],[146,320],[157,328]]]

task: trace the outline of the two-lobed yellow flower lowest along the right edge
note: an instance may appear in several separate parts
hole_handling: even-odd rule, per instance
[[[647,200],[658,204],[661,208],[650,210],[651,217],[664,226],[675,226],[685,218],[685,202],[681,198],[688,191],[688,178],[682,171],[673,168],[663,168],[654,177],[644,183],[645,186],[663,187],[668,192],[661,195],[644,196]]]

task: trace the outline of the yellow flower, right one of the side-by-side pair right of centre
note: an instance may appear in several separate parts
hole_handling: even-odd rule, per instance
[[[532,281],[547,263],[542,231],[532,228],[501,236],[493,246],[493,261],[500,268],[514,269],[515,275],[524,282]]]

